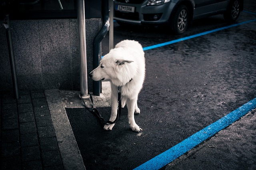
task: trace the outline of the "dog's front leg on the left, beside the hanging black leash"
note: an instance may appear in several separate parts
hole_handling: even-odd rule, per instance
[[[117,108],[118,108],[118,91],[114,85],[111,85],[111,115],[109,121],[113,122],[116,120]],[[114,123],[110,125],[104,125],[105,130],[112,130]]]

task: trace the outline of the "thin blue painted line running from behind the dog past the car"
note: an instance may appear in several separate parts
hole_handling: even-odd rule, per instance
[[[220,31],[220,30],[225,30],[225,29],[228,29],[228,28],[240,26],[240,25],[247,24],[249,22],[254,22],[254,21],[256,21],[256,19],[245,21],[245,22],[241,22],[241,23],[238,23],[238,24],[233,24],[233,25],[230,25],[230,26],[225,26],[225,27],[217,28],[217,29],[206,31],[206,32],[202,32],[202,33],[199,33],[199,34],[194,34],[192,36],[188,36],[188,37],[184,37],[184,38],[179,38],[177,40],[172,40],[172,41],[169,41],[169,42],[164,42],[164,43],[159,43],[159,44],[156,44],[156,45],[151,45],[151,46],[148,46],[148,47],[144,47],[143,50],[146,51],[146,50],[149,50],[149,49],[163,47],[165,45],[170,45],[172,43],[177,43],[177,42],[181,42],[181,41],[184,41],[184,40],[189,40],[191,38],[196,38],[196,37],[199,37],[199,36],[204,36],[206,34],[210,34],[210,33],[213,33],[213,32]]]

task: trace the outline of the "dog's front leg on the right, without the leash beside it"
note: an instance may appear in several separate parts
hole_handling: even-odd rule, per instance
[[[135,123],[135,120],[134,120],[134,110],[135,110],[136,103],[137,103],[137,99],[126,100],[126,104],[128,107],[128,121],[129,121],[130,128],[133,131],[139,132],[141,128]]]

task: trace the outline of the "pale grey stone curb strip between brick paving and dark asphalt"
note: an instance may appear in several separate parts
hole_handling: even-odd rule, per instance
[[[70,126],[59,91],[45,90],[62,162],[66,170],[85,170],[84,162]]]

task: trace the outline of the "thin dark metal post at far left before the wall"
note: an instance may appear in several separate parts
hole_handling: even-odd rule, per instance
[[[18,89],[17,73],[16,73],[13,45],[12,45],[12,32],[10,28],[9,15],[6,15],[6,20],[8,25],[8,28],[6,28],[6,38],[7,38],[8,52],[9,52],[11,72],[12,72],[12,84],[14,88],[15,98],[19,99],[19,89]]]

